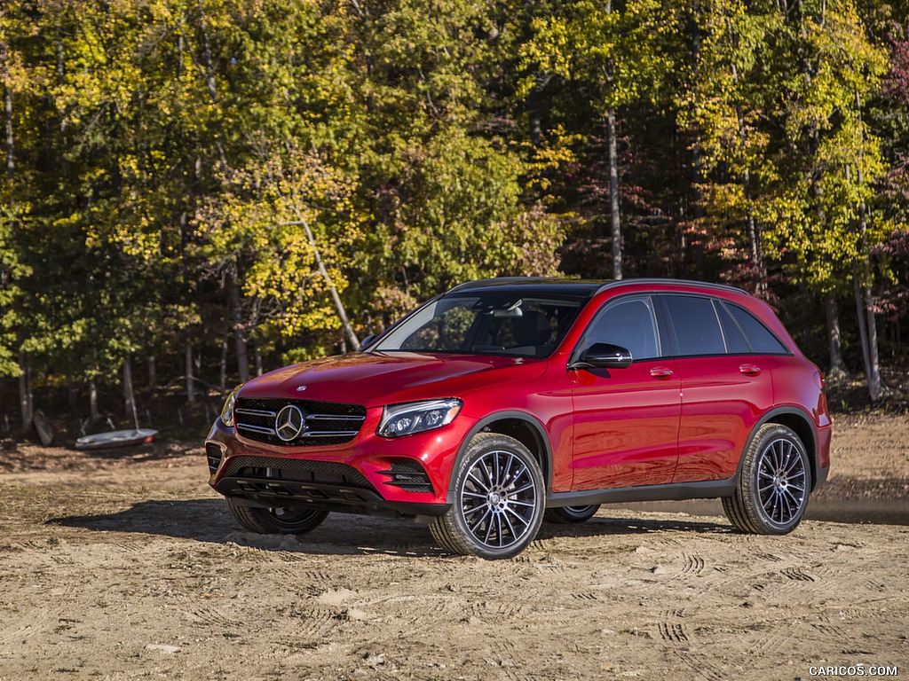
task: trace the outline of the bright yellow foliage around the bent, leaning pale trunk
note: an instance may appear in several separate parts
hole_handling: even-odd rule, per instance
[[[335,287],[344,289],[344,253],[360,233],[349,179],[314,153],[264,155],[222,178],[221,192],[197,215],[199,255],[239,283],[260,345],[339,328],[328,286],[303,222],[317,235]],[[322,209],[320,206],[328,206]]]

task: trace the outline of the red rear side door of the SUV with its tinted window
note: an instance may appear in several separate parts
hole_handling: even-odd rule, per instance
[[[682,390],[673,482],[730,478],[754,425],[773,406],[770,367],[722,301],[682,294],[659,300]]]

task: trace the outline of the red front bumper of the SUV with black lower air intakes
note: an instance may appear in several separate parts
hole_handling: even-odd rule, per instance
[[[464,438],[475,420],[402,438],[380,438],[369,410],[346,444],[289,447],[247,439],[215,420],[205,439],[209,484],[235,503],[321,508],[396,517],[439,516]]]

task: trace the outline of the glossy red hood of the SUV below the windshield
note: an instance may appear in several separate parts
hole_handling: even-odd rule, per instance
[[[240,398],[320,400],[379,407],[459,397],[542,374],[545,360],[490,355],[356,352],[293,364],[246,383]]]

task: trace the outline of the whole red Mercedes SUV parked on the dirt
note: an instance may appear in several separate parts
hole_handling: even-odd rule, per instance
[[[614,501],[722,498],[736,528],[784,534],[827,477],[830,430],[820,372],[744,291],[492,279],[246,383],[205,452],[255,532],[389,514],[508,558],[544,519]]]

